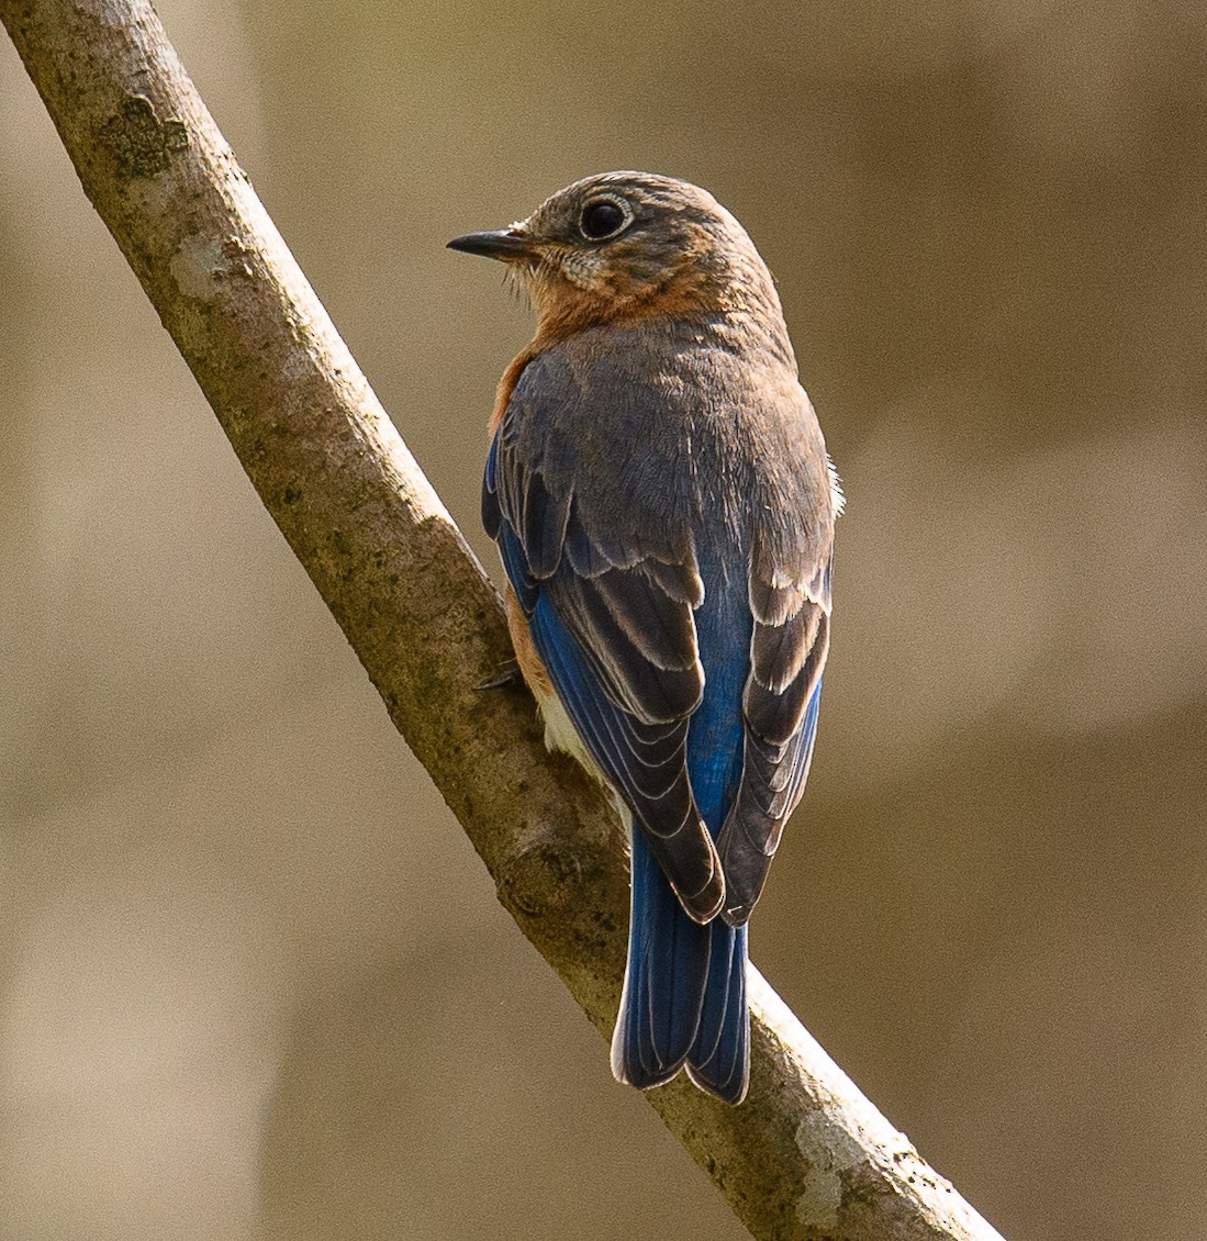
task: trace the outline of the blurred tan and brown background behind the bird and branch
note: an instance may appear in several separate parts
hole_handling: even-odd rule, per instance
[[[643,168],[845,477],[754,925],[1011,1241],[1207,1234],[1207,9],[170,0],[454,515],[528,320],[450,236]],[[0,40],[0,1235],[738,1237],[495,903]]]

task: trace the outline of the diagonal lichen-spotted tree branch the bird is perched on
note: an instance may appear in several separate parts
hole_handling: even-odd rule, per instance
[[[218,133],[146,0],[0,0],[100,213],[257,491],[523,933],[608,1034],[626,864],[531,701],[474,686],[510,654],[499,599]],[[650,1103],[757,1237],[997,1234],[752,972],[752,1088]],[[1000,1241],[1000,1239],[999,1239]]]

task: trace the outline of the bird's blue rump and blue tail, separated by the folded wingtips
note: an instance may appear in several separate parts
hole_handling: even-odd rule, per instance
[[[716,581],[716,580],[715,580]],[[687,733],[687,773],[708,830],[717,835],[742,779],[742,690],[752,620],[744,588],[707,587],[696,613],[705,696]],[[633,907],[624,998],[612,1040],[612,1071],[634,1086],[661,1086],[685,1065],[691,1080],[727,1103],[746,1097],[750,1015],[747,928],[692,922],[633,829]]]

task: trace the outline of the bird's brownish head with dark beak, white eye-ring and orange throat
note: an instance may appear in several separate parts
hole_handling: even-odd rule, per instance
[[[650,172],[604,172],[558,190],[526,220],[453,249],[521,273],[538,333],[665,314],[768,314],[779,298],[746,230],[711,194]]]

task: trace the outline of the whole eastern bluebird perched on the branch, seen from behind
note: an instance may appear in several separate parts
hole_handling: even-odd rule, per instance
[[[633,845],[613,1072],[686,1065],[738,1103],[747,920],[809,773],[842,503],[779,297],[728,211],[646,172],[449,246],[511,264],[537,318],[499,383],[483,520],[546,742]]]

